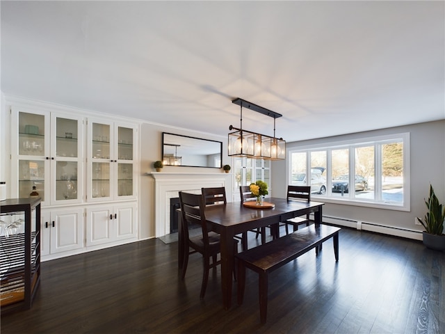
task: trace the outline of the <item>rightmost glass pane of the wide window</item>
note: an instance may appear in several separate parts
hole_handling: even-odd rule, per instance
[[[382,145],[382,200],[403,202],[403,143]]]

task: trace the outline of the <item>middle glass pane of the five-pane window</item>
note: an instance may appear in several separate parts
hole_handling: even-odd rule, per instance
[[[348,196],[349,149],[332,150],[332,196]]]

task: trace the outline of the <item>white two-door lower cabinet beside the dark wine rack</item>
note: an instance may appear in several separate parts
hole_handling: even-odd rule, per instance
[[[83,208],[42,213],[42,256],[83,248]]]

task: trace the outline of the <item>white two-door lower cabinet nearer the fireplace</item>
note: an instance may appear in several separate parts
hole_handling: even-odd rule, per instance
[[[88,207],[86,246],[136,238],[136,207],[136,203]]]

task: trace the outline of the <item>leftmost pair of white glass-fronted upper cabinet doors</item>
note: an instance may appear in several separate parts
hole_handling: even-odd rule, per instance
[[[82,118],[13,107],[13,197],[33,186],[42,206],[81,202]]]

